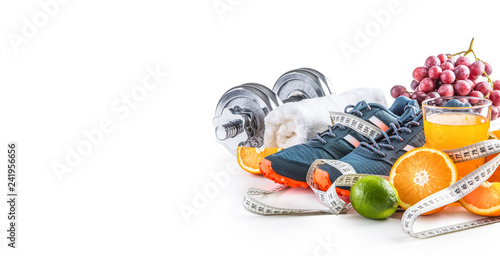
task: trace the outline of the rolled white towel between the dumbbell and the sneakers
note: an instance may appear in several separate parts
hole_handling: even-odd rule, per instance
[[[387,106],[384,92],[376,88],[356,88],[341,94],[283,104],[264,119],[264,147],[287,148],[304,143],[331,125],[330,111],[343,112],[347,105],[362,100]]]

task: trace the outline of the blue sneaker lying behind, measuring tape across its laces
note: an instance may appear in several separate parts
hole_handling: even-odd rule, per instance
[[[260,164],[262,174],[276,183],[308,187],[307,171],[317,159],[341,159],[372,137],[383,134],[404,113],[406,106],[418,107],[415,100],[399,97],[387,109],[377,103],[361,101],[349,105],[344,113],[331,113],[333,126],[304,144],[267,156]]]

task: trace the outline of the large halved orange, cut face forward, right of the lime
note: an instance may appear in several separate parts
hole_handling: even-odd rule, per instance
[[[401,208],[408,209],[457,181],[457,168],[440,150],[421,147],[402,155],[391,169],[389,182],[399,194]],[[423,215],[442,210],[445,206]]]

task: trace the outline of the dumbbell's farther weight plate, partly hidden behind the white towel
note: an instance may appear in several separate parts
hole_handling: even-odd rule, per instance
[[[331,94],[331,84],[320,72],[311,68],[299,68],[278,78],[273,91],[284,103],[323,97]]]

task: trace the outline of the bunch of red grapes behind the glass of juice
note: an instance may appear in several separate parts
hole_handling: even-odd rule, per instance
[[[495,120],[500,113],[500,80],[492,82],[489,77],[493,72],[491,65],[477,58],[472,62],[465,56],[469,52],[473,52],[472,48],[461,52],[464,55],[442,53],[429,56],[424,66],[413,70],[413,92],[402,85],[395,85],[391,88],[391,96],[406,96],[417,100],[419,104],[425,99],[446,96],[487,98],[493,103],[491,120]],[[480,81],[481,77],[487,80]]]

